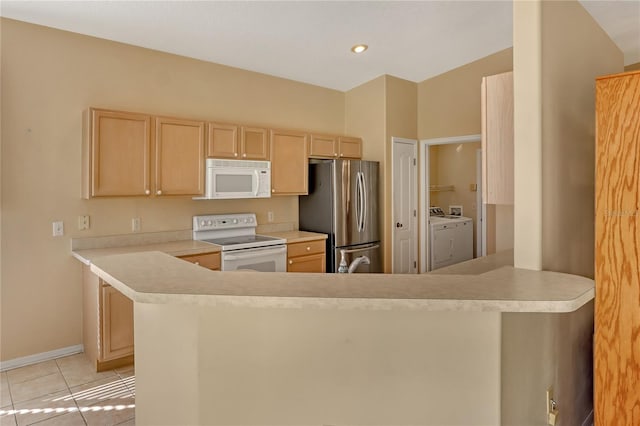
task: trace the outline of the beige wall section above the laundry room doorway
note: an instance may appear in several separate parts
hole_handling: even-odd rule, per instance
[[[513,69],[513,49],[505,49],[418,84],[418,138],[480,133],[482,77]]]

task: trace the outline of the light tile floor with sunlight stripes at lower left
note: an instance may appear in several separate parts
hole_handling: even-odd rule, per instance
[[[0,426],[135,424],[133,365],[96,373],[84,354],[0,373]]]

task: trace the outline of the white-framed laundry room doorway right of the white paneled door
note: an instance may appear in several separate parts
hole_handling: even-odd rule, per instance
[[[479,134],[420,140],[420,272],[431,271],[436,264],[448,265],[486,254],[486,208],[482,170],[478,169],[480,141]],[[460,228],[455,236],[446,234],[446,249],[442,241],[432,241],[445,233],[437,225],[434,232],[431,222],[438,220],[430,221],[430,213]],[[465,252],[462,259],[461,251]],[[451,260],[442,262],[443,256]]]

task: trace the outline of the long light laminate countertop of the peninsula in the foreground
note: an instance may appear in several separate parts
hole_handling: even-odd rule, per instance
[[[280,308],[572,312],[588,278],[504,266],[478,275],[214,272],[157,251],[92,260],[91,271],[139,303]]]

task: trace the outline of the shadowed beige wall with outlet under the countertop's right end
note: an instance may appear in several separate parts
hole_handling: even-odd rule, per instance
[[[546,425],[549,386],[556,425],[583,424],[593,407],[592,343],[593,302],[564,314],[502,314],[501,424]]]

